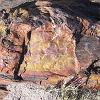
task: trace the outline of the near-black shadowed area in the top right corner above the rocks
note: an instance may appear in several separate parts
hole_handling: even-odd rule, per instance
[[[57,1],[56,1],[57,2]],[[53,8],[60,8],[69,15],[100,20],[100,4],[91,3],[90,0],[70,0],[64,3],[53,3]]]

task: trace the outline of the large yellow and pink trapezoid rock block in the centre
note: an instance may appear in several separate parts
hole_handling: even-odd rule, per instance
[[[28,74],[27,78],[34,75],[45,76],[52,82],[53,77],[56,81],[57,77],[76,74],[78,69],[72,31],[66,25],[54,28],[48,22],[33,30],[28,52],[21,65],[23,67],[26,70],[24,74]]]

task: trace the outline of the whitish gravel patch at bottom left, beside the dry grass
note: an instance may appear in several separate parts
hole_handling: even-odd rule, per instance
[[[17,83],[7,87],[10,93],[3,100],[56,100],[44,87],[33,83]]]

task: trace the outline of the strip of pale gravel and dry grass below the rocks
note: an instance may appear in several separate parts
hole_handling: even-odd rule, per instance
[[[14,83],[3,100],[99,100],[100,91],[69,85],[62,88],[44,88],[33,83]]]

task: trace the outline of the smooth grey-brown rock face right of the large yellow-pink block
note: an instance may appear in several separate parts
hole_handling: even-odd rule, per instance
[[[76,47],[76,55],[82,69],[88,67],[94,59],[100,58],[100,39],[98,37],[82,37]]]

